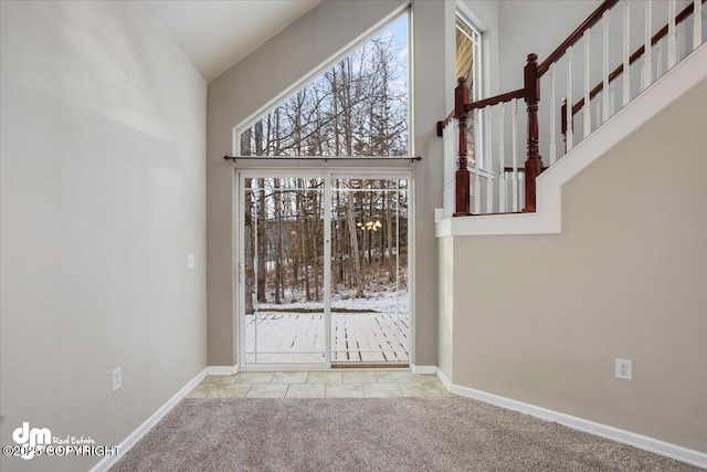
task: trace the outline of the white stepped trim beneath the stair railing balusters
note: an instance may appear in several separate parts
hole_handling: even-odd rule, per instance
[[[479,214],[437,221],[437,238],[452,235],[557,234],[562,229],[562,186],[707,77],[704,43],[606,123],[542,172],[536,213]]]

